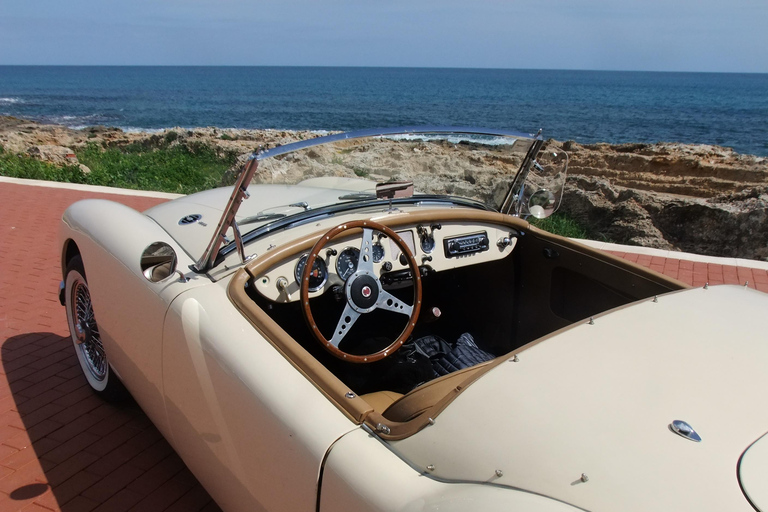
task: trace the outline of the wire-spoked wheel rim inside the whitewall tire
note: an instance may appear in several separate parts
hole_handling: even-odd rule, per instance
[[[72,323],[75,342],[82,352],[85,365],[96,380],[104,380],[107,376],[107,358],[93,316],[91,294],[88,286],[79,279],[72,286]]]

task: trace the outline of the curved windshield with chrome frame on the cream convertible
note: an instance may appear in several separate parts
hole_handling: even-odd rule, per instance
[[[244,258],[242,240],[314,215],[375,207],[385,200],[451,202],[530,215],[520,208],[526,199],[542,205],[533,213],[551,211],[559,197],[524,195],[542,143],[539,134],[430,127],[332,134],[261,151],[244,167],[217,233],[195,268],[211,267],[221,243],[225,252],[237,243]],[[258,198],[238,213],[250,195],[245,190],[249,183],[299,187],[252,188]]]

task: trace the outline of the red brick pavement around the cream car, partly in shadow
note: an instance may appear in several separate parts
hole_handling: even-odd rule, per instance
[[[0,512],[217,511],[135,404],[96,397],[57,290],[59,219],[86,197],[138,210],[162,199],[0,183]],[[615,253],[694,286],[768,292],[768,272]]]

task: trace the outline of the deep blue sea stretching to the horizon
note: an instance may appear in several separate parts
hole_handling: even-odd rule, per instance
[[[0,66],[0,115],[129,130],[475,125],[768,156],[768,74]]]

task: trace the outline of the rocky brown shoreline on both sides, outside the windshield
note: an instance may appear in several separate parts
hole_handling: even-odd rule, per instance
[[[0,117],[0,145],[5,151],[58,165],[79,164],[73,150],[91,142],[105,147],[153,147],[161,140],[203,143],[242,161],[259,147],[317,135],[310,131],[213,127],[171,128],[157,133],[103,126],[74,130]],[[587,226],[593,237],[768,260],[768,158],[710,145],[582,145],[554,140],[547,144],[570,155],[561,211]],[[464,188],[468,185],[461,183]]]

